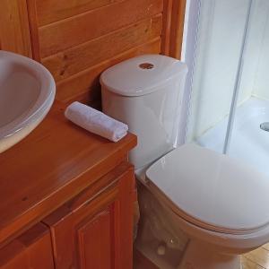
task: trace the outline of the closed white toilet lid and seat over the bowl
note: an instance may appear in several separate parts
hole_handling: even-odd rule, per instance
[[[269,222],[269,177],[227,155],[186,144],[146,177],[180,217],[204,229],[237,234]]]

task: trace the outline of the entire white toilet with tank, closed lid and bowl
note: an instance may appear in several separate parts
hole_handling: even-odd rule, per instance
[[[162,255],[189,239],[180,262],[168,267],[239,269],[239,254],[269,241],[269,178],[195,144],[176,148],[186,74],[185,64],[167,56],[114,65],[100,78],[103,111],[137,134],[129,160],[144,186],[141,206],[152,201],[144,218],[162,242],[155,250]]]

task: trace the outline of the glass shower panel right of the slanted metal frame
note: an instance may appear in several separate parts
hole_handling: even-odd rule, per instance
[[[226,152],[269,176],[269,1],[251,3]]]

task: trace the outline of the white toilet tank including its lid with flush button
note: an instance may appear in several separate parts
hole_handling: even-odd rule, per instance
[[[101,74],[103,112],[137,135],[129,154],[135,169],[174,147],[186,74],[186,64],[160,55],[136,56]]]

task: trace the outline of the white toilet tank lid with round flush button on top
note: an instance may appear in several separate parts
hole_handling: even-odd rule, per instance
[[[175,76],[187,74],[187,65],[161,55],[143,55],[108,68],[100,76],[102,86],[119,95],[141,96],[158,91]]]

